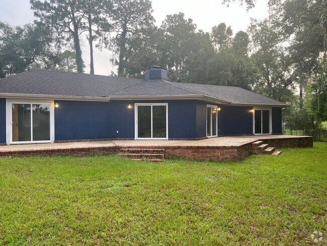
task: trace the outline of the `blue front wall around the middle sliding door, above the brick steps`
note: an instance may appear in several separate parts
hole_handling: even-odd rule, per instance
[[[134,138],[136,101],[64,101],[56,100],[55,141]],[[137,101],[167,102],[167,101]],[[128,104],[133,105],[128,109]],[[196,101],[168,101],[168,137],[196,138]],[[117,134],[117,131],[119,132]]]

